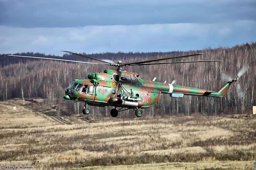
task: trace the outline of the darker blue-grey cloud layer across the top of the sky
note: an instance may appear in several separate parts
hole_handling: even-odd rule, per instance
[[[84,27],[256,19],[255,0],[0,0],[0,25]]]

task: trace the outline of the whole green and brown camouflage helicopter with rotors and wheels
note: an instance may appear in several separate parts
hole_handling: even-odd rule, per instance
[[[44,57],[30,57],[20,55],[9,55],[14,57],[40,58],[49,60],[59,60],[66,62],[79,62],[96,65],[107,65],[115,67],[115,70],[106,69],[104,72],[89,73],[88,79],[74,79],[70,85],[65,89],[65,100],[74,100],[74,102],[84,102],[83,113],[88,115],[90,110],[87,105],[105,107],[115,107],[110,110],[112,117],[117,117],[118,112],[128,109],[135,110],[136,117],[141,117],[143,108],[153,106],[160,98],[161,94],[169,94],[170,97],[180,98],[184,95],[205,96],[208,97],[209,102],[213,105],[213,97],[223,97],[229,89],[231,83],[237,83],[237,92],[239,97],[243,97],[241,86],[238,84],[238,79],[248,71],[249,66],[244,64],[241,70],[237,73],[236,78],[231,78],[226,74],[222,74],[222,80],[227,81],[218,91],[204,90],[200,88],[185,87],[175,85],[175,80],[172,83],[156,82],[156,77],[150,80],[142,79],[137,73],[127,72],[124,67],[134,65],[160,65],[170,63],[194,63],[194,62],[220,62],[222,60],[196,60],[196,61],[178,61],[178,62],[159,62],[162,60],[177,59],[191,57],[195,55],[202,55],[202,53],[195,53],[191,55],[183,55],[178,57],[168,57],[155,60],[147,60],[142,62],[123,63],[121,61],[113,62],[111,60],[99,60],[83,54],[62,51],[78,55],[81,57],[96,60],[101,63],[82,62],[74,60],[63,60],[56,58]],[[157,63],[152,63],[157,62]],[[119,109],[117,109],[119,107]]]

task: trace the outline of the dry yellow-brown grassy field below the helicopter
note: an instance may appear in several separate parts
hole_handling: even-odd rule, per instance
[[[256,162],[252,115],[94,123],[72,116],[67,120],[71,125],[61,125],[43,113],[13,106],[0,102],[0,166],[209,170],[253,169]]]

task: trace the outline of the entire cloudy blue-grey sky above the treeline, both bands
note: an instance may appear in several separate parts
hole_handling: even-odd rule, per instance
[[[256,0],[0,0],[0,53],[166,52],[256,41]]]

